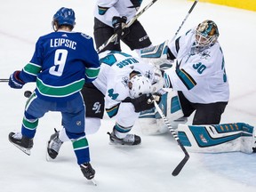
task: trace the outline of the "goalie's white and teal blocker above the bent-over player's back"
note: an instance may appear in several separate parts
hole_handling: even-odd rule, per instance
[[[150,46],[140,50],[140,58],[160,69],[172,68],[173,60],[168,60],[168,40],[156,46]]]

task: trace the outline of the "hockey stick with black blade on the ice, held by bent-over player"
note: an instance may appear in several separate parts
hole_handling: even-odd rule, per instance
[[[180,142],[180,139],[177,135],[177,133],[174,131],[174,129],[172,128],[172,125],[169,123],[168,119],[164,116],[163,111],[161,110],[161,108],[159,108],[159,106],[156,103],[156,100],[153,99],[154,105],[156,107],[157,112],[160,114],[160,116],[163,118],[164,120],[164,124],[167,125],[169,131],[172,133],[172,136],[174,137],[174,139],[178,142],[178,144],[180,145],[180,148],[182,149],[182,151],[185,154],[185,157],[181,160],[180,164],[178,164],[176,166],[176,168],[173,170],[172,175],[173,176],[177,176],[180,171],[182,170],[183,166],[188,162],[189,159],[189,155],[188,155],[188,151],[186,150],[186,148],[184,148],[184,146],[182,145],[182,143]]]

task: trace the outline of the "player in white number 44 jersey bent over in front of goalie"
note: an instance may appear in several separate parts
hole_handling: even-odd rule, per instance
[[[163,87],[159,73],[157,68],[124,52],[100,53],[99,76],[92,84],[84,84],[82,90],[86,104],[86,120],[91,122],[86,122],[85,132],[90,129],[93,129],[90,133],[98,131],[105,104],[108,116],[116,117],[116,124],[112,132],[108,133],[110,142],[129,146],[140,144],[140,136],[130,131],[139,118],[140,111],[154,107],[153,103],[148,103],[148,99],[152,96],[151,92]],[[86,94],[88,89],[94,90],[89,97]],[[54,138],[60,140],[59,148],[53,147]],[[49,156],[55,158],[65,140],[65,129],[52,136],[48,145]]]

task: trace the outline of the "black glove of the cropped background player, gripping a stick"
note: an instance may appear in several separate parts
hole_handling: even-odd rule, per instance
[[[126,21],[127,21],[127,18],[125,16],[113,17],[112,26],[113,26],[114,32],[117,34],[117,36],[124,37],[130,32],[129,28],[123,28]]]

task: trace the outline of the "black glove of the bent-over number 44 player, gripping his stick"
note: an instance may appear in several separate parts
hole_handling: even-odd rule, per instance
[[[139,113],[141,111],[145,111],[151,108],[154,108],[154,102],[153,100],[156,100],[157,103],[160,102],[161,96],[158,94],[142,94],[139,98],[132,99],[130,97],[127,97],[123,102],[131,102],[132,105],[135,108],[135,112]]]

